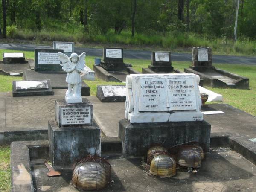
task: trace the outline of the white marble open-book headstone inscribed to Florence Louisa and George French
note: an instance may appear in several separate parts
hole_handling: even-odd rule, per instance
[[[195,74],[129,75],[125,116],[131,123],[203,120],[198,84]]]

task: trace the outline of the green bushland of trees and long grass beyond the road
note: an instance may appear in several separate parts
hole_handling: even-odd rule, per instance
[[[214,54],[256,55],[256,0],[2,0],[0,6],[1,41],[183,52],[210,46]]]

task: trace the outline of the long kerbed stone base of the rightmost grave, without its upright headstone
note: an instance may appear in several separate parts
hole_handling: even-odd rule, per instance
[[[195,73],[204,79],[204,84],[210,87],[249,89],[249,79],[215,67],[192,67],[184,69],[186,73]]]

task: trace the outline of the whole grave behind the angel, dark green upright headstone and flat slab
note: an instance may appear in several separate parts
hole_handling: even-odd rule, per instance
[[[51,80],[52,89],[67,89],[65,81],[67,74],[61,69],[61,61],[58,52],[61,49],[35,49],[35,69],[24,70],[23,79],[35,80]],[[90,95],[90,87],[82,81],[82,96]]]

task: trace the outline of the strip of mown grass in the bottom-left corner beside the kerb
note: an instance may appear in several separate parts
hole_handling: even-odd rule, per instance
[[[10,147],[0,146],[0,191],[11,191]]]

